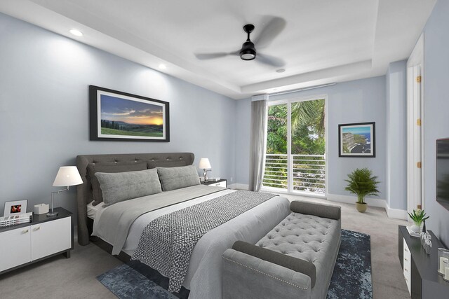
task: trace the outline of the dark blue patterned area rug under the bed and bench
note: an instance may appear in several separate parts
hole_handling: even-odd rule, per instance
[[[166,281],[154,278],[154,270],[131,261],[97,277],[109,291],[120,299],[128,298],[187,298],[189,291],[173,295],[168,293]],[[158,281],[156,284],[154,281]],[[342,230],[342,243],[335,263],[328,290],[328,299],[370,299],[373,298],[371,284],[370,236],[361,232]]]

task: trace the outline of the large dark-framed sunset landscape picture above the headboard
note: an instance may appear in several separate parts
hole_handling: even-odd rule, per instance
[[[169,103],[89,86],[91,140],[170,141]]]

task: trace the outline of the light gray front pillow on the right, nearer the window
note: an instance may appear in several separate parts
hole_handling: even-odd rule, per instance
[[[199,185],[199,176],[193,165],[182,167],[156,167],[162,190],[170,191]]]

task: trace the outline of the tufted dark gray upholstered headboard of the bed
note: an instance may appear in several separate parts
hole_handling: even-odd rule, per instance
[[[193,153],[125,153],[109,155],[78,155],[76,167],[83,179],[83,184],[76,187],[76,200],[78,202],[78,243],[89,243],[87,225],[87,204],[93,200],[91,179],[88,177],[87,167],[95,165],[130,165],[133,162],[145,161],[147,168],[175,167],[180,165],[192,165]]]

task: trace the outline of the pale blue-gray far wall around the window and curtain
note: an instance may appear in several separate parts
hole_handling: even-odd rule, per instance
[[[379,176],[379,198],[386,198],[386,118],[385,76],[338,83],[325,88],[271,96],[270,101],[294,99],[310,95],[328,95],[328,193],[351,195],[344,190],[347,174],[357,167],[368,167]],[[249,181],[250,99],[237,104],[239,134],[236,139],[236,173],[239,183]],[[339,158],[338,125],[343,123],[376,123],[376,158]]]

